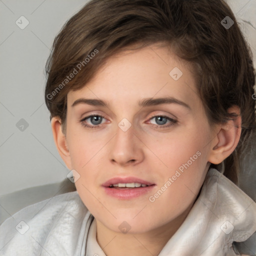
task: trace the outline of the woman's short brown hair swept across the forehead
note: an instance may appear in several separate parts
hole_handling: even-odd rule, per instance
[[[227,23],[226,16],[234,22],[231,27],[221,22]],[[193,66],[210,124],[235,118],[227,109],[240,108],[240,141],[223,162],[224,175],[237,183],[239,157],[256,126],[255,73],[250,49],[223,0],[88,2],[57,34],[46,63],[45,102],[50,118],[58,116],[65,126],[68,91],[83,87],[108,57],[126,46],[157,42],[166,43]]]

